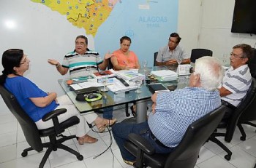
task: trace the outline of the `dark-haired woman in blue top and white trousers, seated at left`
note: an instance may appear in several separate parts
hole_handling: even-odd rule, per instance
[[[71,116],[78,116],[80,119],[79,124],[76,126],[78,143],[83,145],[83,143],[97,142],[96,138],[87,135],[89,126],[86,124],[85,118],[80,116],[71,102],[63,97],[57,97],[56,92],[42,91],[36,84],[23,76],[29,69],[30,60],[24,55],[22,49],[8,49],[5,51],[1,63],[4,71],[2,71],[3,74],[0,76],[0,84],[15,95],[21,108],[35,122],[38,129],[53,127],[53,122],[42,121],[42,116],[55,109],[66,108],[67,113],[58,116],[59,122],[61,123]],[[99,131],[105,129],[106,125],[114,124],[114,122],[114,120],[109,121],[99,116],[94,120]]]

